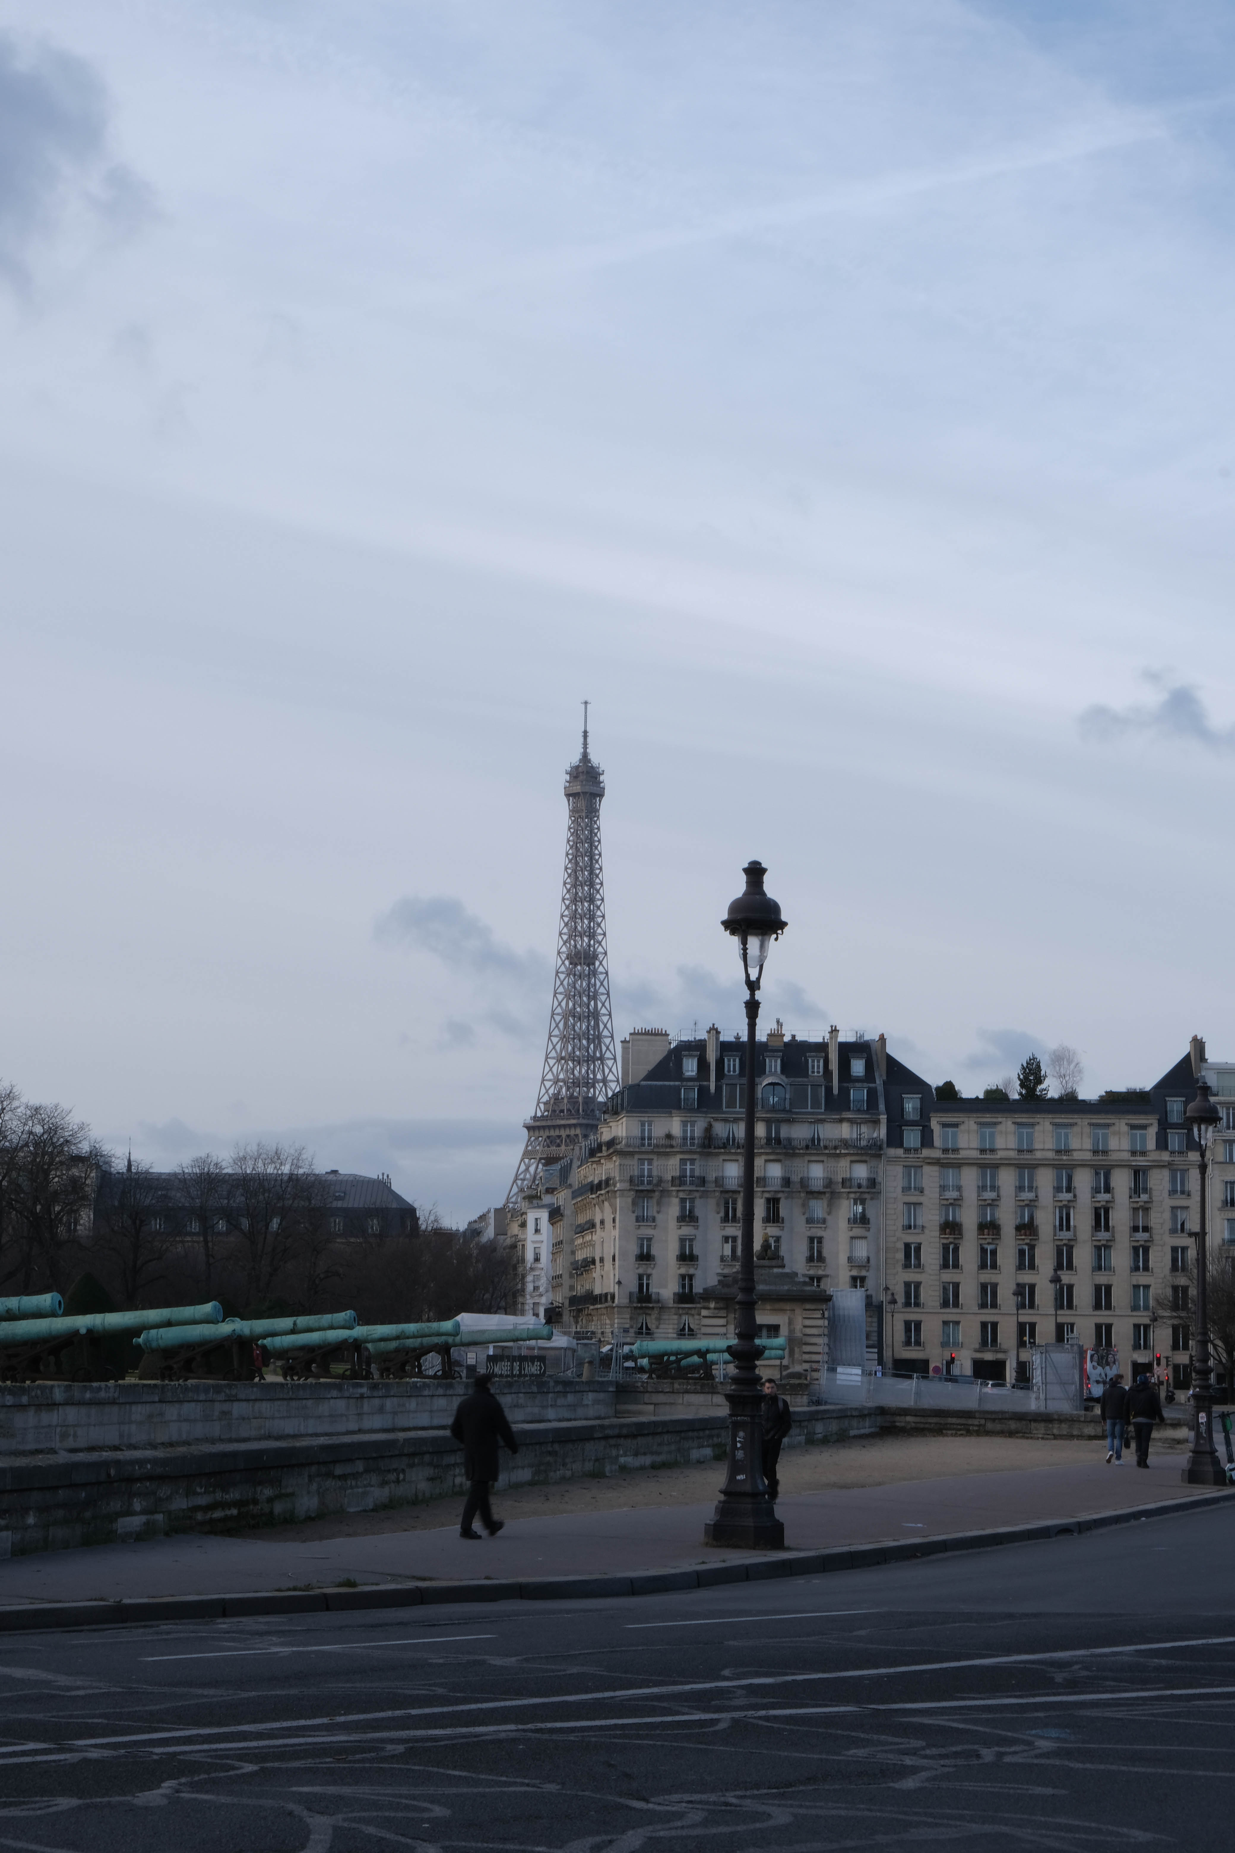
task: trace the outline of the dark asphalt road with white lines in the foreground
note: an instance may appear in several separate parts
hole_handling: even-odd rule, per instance
[[[1229,1847],[1233,1549],[7,1636],[0,1847]]]

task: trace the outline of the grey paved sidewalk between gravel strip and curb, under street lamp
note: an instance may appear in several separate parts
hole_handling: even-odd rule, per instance
[[[1033,1468],[794,1494],[780,1501],[789,1549],[909,1542],[1089,1518],[1159,1501],[1187,1501],[1205,1488],[1179,1481],[1178,1455],[1141,1471],[1131,1464]],[[720,1481],[720,1469],[717,1471]],[[494,1501],[502,1508],[500,1495]],[[500,1538],[468,1544],[457,1523],[443,1531],[380,1532],[367,1538],[296,1540],[178,1536],[46,1551],[0,1564],[0,1607],[20,1603],[117,1601],[154,1595],[237,1595],[250,1590],[328,1588],[457,1579],[631,1575],[742,1558],[707,1547],[704,1521],[715,1501],[633,1506],[513,1519]]]

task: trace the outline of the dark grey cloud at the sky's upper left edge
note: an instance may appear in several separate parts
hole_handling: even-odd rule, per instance
[[[24,56],[0,33],[0,276],[30,287],[30,248],[83,204],[115,235],[154,213],[131,169],[107,161],[104,83],[83,57],[37,44]]]

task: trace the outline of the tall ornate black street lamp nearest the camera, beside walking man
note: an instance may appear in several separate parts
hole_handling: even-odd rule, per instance
[[[787,921],[770,895],[763,891],[767,869],[748,862],[742,869],[746,888],[730,902],[722,926],[741,945],[742,975],[746,978],[746,1143],[742,1149],[742,1234],[737,1264],[737,1319],[730,1405],[730,1464],[717,1510],[704,1538],[707,1544],[726,1544],[750,1549],[780,1551],[785,1545],[785,1527],[763,1479],[763,1393],[755,1358],[755,1021],[759,1017],[759,984],[772,939],[780,939]],[[752,973],[754,967],[754,973]]]

